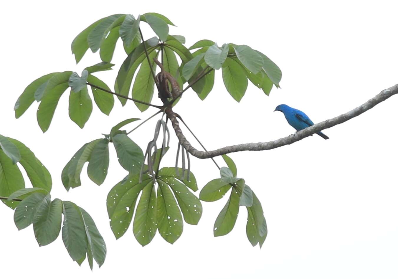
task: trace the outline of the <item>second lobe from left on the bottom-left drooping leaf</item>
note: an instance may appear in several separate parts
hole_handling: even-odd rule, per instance
[[[33,224],[36,241],[45,246],[57,239],[61,230],[62,201],[54,199],[49,206],[48,214],[40,222]]]

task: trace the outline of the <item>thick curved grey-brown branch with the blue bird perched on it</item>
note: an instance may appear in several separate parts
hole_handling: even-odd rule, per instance
[[[206,158],[213,158],[215,156],[220,156],[220,155],[228,154],[228,153],[232,153],[232,152],[248,151],[248,150],[250,150],[250,151],[269,150],[269,149],[278,148],[278,147],[281,147],[281,146],[284,146],[287,144],[292,144],[293,142],[302,140],[306,137],[309,137],[310,135],[312,135],[314,133],[318,133],[324,129],[331,128],[338,124],[344,123],[345,121],[348,121],[349,119],[357,117],[358,115],[364,113],[365,111],[371,109],[378,103],[381,103],[382,101],[387,100],[392,95],[397,94],[397,93],[398,93],[398,84],[396,84],[388,89],[384,89],[382,92],[377,94],[375,97],[373,97],[366,103],[363,103],[359,107],[356,107],[355,109],[348,111],[347,113],[343,113],[343,114],[341,114],[337,117],[334,117],[332,119],[328,119],[328,120],[322,121],[320,123],[317,123],[315,125],[312,125],[306,129],[300,130],[297,133],[295,133],[294,135],[290,135],[288,137],[284,137],[284,138],[269,141],[269,142],[236,144],[236,145],[226,146],[223,148],[219,148],[219,149],[207,151],[207,152],[199,151],[196,148],[194,148],[193,146],[191,146],[191,144],[185,138],[181,129],[179,128],[177,114],[174,113],[170,107],[167,108],[165,111],[166,111],[167,117],[169,117],[170,121],[172,122],[173,129],[176,132],[179,142],[184,146],[184,148],[193,156],[200,158],[200,159],[206,159]]]

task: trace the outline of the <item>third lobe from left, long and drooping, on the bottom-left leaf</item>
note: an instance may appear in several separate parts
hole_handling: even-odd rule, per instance
[[[70,201],[62,201],[62,205],[64,214],[62,240],[69,256],[78,261],[86,255],[88,246],[82,214],[79,207]]]

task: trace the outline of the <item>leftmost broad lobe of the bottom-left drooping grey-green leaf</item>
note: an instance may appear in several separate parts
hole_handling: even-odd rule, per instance
[[[46,195],[38,192],[32,193],[23,199],[14,212],[14,222],[18,230],[26,228],[33,222],[41,221],[45,217],[50,203],[49,194]]]

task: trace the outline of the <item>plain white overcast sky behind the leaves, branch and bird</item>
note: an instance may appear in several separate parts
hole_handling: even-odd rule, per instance
[[[213,91],[200,101],[189,90],[175,107],[208,149],[290,135],[280,103],[301,109],[315,122],[335,117],[369,100],[398,82],[397,4],[393,1],[54,1],[7,2],[0,11],[2,28],[2,98],[0,133],[25,143],[49,169],[53,198],[70,200],[92,215],[107,244],[101,269],[91,272],[70,259],[62,238],[39,248],[30,226],[18,232],[13,211],[0,207],[0,266],[2,275],[49,278],[397,278],[398,189],[395,143],[398,98],[384,101],[359,117],[325,130],[330,140],[309,137],[291,146],[261,152],[230,154],[238,176],[259,197],[268,225],[263,248],[246,238],[246,209],[226,236],[213,237],[213,223],[227,197],[203,202],[198,226],[184,223],[174,245],[156,234],[142,248],[132,228],[115,240],[105,206],[107,193],[126,175],[110,148],[105,183],[98,187],[82,172],[82,186],[67,193],[60,174],[84,143],[108,133],[119,121],[145,119],[128,101],[118,100],[110,116],[94,104],[83,130],[68,117],[68,91],[62,96],[49,131],[37,125],[34,103],[20,118],[14,103],[36,78],[55,71],[81,72],[100,62],[87,53],[76,66],[73,38],[94,21],[111,14],[159,12],[178,27],[189,47],[200,39],[246,44],[281,68],[282,89],[265,96],[249,84],[242,101],[224,88],[221,71]],[[4,6],[6,5],[6,6]],[[142,24],[144,26],[145,23]],[[142,27],[144,38],[151,31]],[[125,53],[119,41],[112,62],[115,70],[100,78],[113,89]],[[90,93],[91,94],[91,93]],[[155,95],[156,97],[156,95]],[[159,103],[157,98],[154,102]],[[156,120],[131,134],[141,148],[152,138]],[[135,127],[135,123],[127,127]],[[186,134],[188,135],[188,134]],[[174,166],[177,140],[162,164]],[[199,149],[192,137],[191,143]],[[217,161],[222,164],[219,158]],[[211,160],[192,159],[199,189],[219,177]],[[30,182],[26,179],[26,184]],[[199,191],[197,192],[199,195]],[[8,275],[8,276],[7,276]]]

